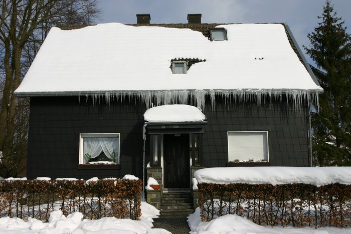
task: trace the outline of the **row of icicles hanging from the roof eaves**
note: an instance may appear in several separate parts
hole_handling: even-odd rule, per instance
[[[315,95],[316,105],[318,104],[318,92],[310,92],[307,90],[164,90],[164,91],[120,91],[120,92],[105,92],[105,93],[90,93],[86,94],[86,102],[88,98],[93,100],[96,105],[104,97],[107,105],[111,101],[125,102],[134,100],[135,104],[145,103],[146,108],[167,104],[190,104],[197,106],[201,110],[205,110],[206,96],[210,97],[212,109],[216,107],[216,97],[222,98],[227,106],[235,103],[244,103],[246,101],[256,101],[260,106],[266,101],[270,103],[281,102],[283,97],[286,97],[287,102],[293,104],[296,110],[300,109],[307,101],[310,105],[311,94]],[[79,97],[80,100],[80,97]]]

